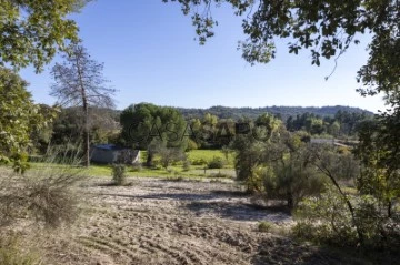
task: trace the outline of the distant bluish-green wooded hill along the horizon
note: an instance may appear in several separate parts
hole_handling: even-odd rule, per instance
[[[353,106],[343,106],[343,105],[334,105],[334,106],[264,106],[264,108],[229,108],[229,106],[211,106],[209,109],[188,109],[188,108],[176,108],[180,111],[186,119],[191,118],[201,118],[206,113],[210,113],[217,115],[220,119],[233,119],[238,120],[240,118],[251,118],[254,119],[262,113],[272,113],[276,115],[280,115],[283,120],[289,116],[301,115],[306,112],[313,113],[320,116],[333,116],[338,111],[347,111],[354,113],[367,113],[373,115],[372,112],[362,110],[360,108]]]

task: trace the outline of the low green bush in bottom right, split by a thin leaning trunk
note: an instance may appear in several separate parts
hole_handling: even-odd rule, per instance
[[[298,222],[293,234],[317,243],[356,247],[358,228],[364,247],[388,251],[400,246],[399,223],[381,215],[378,200],[369,195],[350,200],[354,205],[356,223],[343,197],[332,187],[320,197],[304,200],[294,214]]]

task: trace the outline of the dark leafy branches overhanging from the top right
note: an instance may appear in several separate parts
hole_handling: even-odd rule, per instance
[[[290,53],[308,49],[311,63],[338,58],[351,44],[360,41],[357,34],[369,33],[370,58],[358,73],[367,89],[362,94],[390,92],[399,88],[399,20],[397,0],[163,0],[179,2],[184,14],[192,14],[199,41],[203,44],[214,35],[218,24],[212,7],[231,6],[240,16],[247,40],[240,42],[243,58],[250,62],[269,62],[276,57],[276,40],[288,40]]]

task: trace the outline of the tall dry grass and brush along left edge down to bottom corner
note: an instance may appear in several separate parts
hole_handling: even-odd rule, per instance
[[[83,180],[78,165],[76,156],[53,150],[23,175],[0,169],[1,265],[42,264],[40,255],[31,252],[39,248],[40,236],[44,232],[57,236],[57,228],[78,218],[84,201],[78,190]]]

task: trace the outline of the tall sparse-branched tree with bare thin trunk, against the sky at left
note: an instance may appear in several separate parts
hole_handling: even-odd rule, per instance
[[[83,162],[90,165],[90,120],[89,108],[113,108],[111,95],[116,90],[107,88],[102,75],[103,64],[90,59],[88,51],[80,44],[73,44],[71,52],[64,55],[62,64],[57,63],[51,71],[56,83],[51,95],[59,104],[81,106],[83,111]]]

